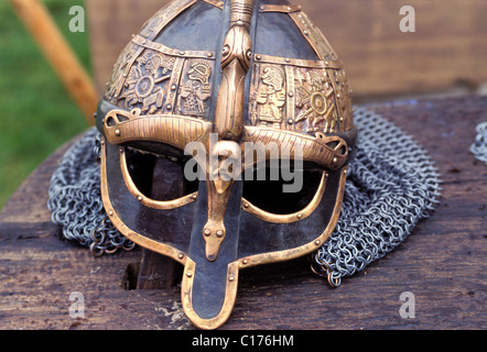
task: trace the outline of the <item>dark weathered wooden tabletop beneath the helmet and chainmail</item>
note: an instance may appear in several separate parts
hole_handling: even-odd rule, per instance
[[[487,97],[370,106],[421,143],[443,175],[443,198],[392,253],[329,288],[305,260],[242,271],[223,329],[486,329],[487,166],[468,152]],[[193,329],[180,288],[127,290],[142,251],[95,258],[61,240],[47,185],[65,147],[29,177],[0,213],[0,329]],[[133,285],[132,285],[133,286]],[[85,318],[69,317],[69,295]],[[415,297],[402,319],[400,295]]]

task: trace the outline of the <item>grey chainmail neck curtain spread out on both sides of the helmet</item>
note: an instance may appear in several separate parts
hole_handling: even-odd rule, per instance
[[[336,287],[379,260],[428,218],[440,197],[440,175],[411,136],[365,108],[355,109],[359,130],[342,216],[331,239],[312,257],[314,273]],[[99,133],[84,134],[53,174],[48,208],[64,238],[94,255],[131,250],[108,220],[100,199]]]

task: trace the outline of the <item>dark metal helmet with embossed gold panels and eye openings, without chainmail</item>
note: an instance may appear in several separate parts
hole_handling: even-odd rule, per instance
[[[132,37],[97,111],[118,230],[184,265],[197,327],[230,316],[240,270],[316,251],[356,139],[342,62],[284,0],[176,0]]]

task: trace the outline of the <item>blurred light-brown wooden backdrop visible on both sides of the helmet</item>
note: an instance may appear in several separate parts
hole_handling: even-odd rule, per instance
[[[131,34],[169,0],[87,0],[93,67],[105,91]],[[356,97],[476,89],[487,82],[485,0],[294,0],[345,63]],[[415,33],[399,11],[415,10]]]

